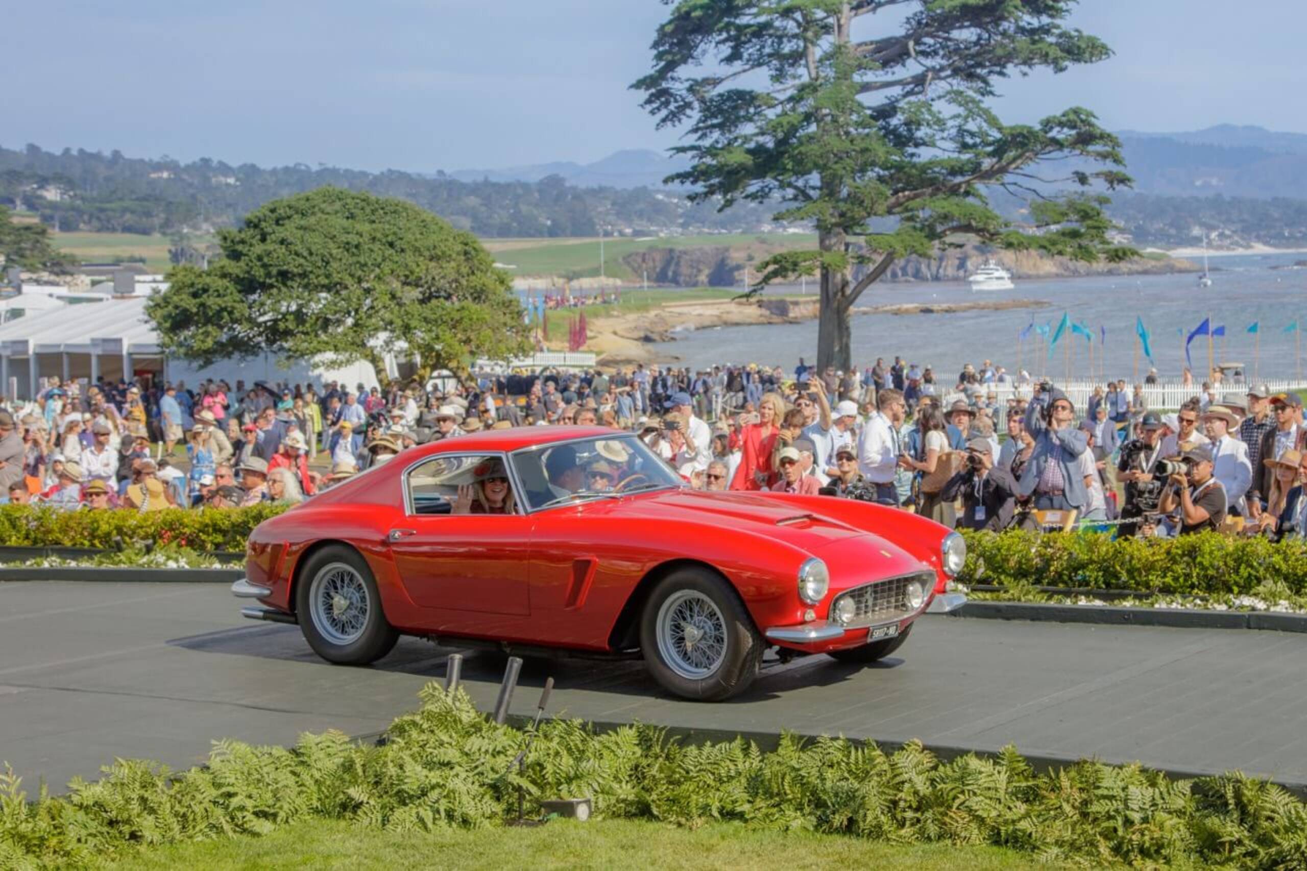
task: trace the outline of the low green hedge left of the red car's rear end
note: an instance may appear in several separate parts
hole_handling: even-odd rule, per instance
[[[196,551],[244,552],[246,539],[282,505],[186,511],[58,511],[0,505],[0,547],[95,547],[118,550],[166,545]]]

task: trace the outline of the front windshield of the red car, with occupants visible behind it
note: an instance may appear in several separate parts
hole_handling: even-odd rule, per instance
[[[512,454],[512,465],[529,511],[685,483],[631,434],[527,448]]]

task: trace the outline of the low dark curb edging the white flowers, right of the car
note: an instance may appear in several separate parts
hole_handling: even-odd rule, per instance
[[[987,620],[1035,620],[1097,626],[1161,626],[1178,629],[1266,629],[1307,632],[1307,615],[1274,611],[1046,605],[1039,602],[967,602],[945,616]]]

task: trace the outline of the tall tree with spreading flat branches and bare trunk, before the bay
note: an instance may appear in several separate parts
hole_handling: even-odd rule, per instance
[[[1084,108],[1004,124],[995,82],[1111,55],[1063,22],[1074,0],[664,0],[654,69],[633,87],[684,127],[694,166],[669,182],[721,208],[783,202],[818,244],[763,264],[755,290],[821,274],[818,366],[852,364],[850,309],[893,262],[963,235],[1081,260],[1125,259],[1107,200],[1120,144]],[[1039,178],[1036,163],[1070,168]],[[1050,196],[1069,182],[1077,195]],[[987,192],[1027,200],[1005,221]]]

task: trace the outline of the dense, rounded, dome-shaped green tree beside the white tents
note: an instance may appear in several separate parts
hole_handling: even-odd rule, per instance
[[[208,269],[179,265],[146,313],[169,353],[209,364],[273,351],[367,360],[406,347],[425,379],[528,350],[508,277],[476,236],[401,200],[320,188],[221,230]]]

